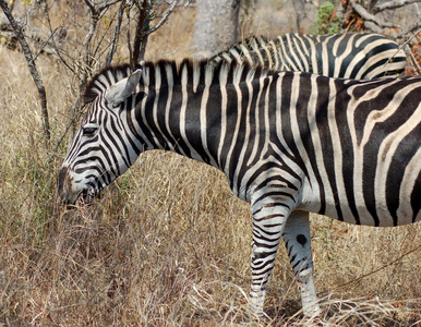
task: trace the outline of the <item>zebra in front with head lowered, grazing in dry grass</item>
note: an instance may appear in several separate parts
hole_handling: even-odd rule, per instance
[[[421,77],[357,81],[226,61],[109,68],[62,164],[58,192],[91,202],[141,153],[220,169],[253,216],[250,310],[262,315],[284,239],[306,315],[320,312],[309,211],[349,223],[421,220]]]

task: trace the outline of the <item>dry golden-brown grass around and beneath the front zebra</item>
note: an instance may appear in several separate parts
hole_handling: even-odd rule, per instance
[[[155,33],[147,57],[185,56],[190,15],[179,12]],[[72,76],[55,59],[37,64],[55,143],[67,128]],[[67,144],[44,146],[23,56],[0,46],[0,326],[248,322],[251,217],[220,172],[153,152],[92,207],[67,210],[56,196]],[[312,234],[324,315],[301,316],[280,249],[267,318],[251,325],[421,324],[420,223],[374,229],[313,216]]]

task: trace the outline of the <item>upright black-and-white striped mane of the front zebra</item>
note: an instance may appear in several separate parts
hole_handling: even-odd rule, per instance
[[[236,60],[228,62],[221,60],[213,62],[208,60],[196,61],[184,59],[180,63],[170,60],[145,62],[139,64],[134,70],[142,70],[142,84],[154,86],[157,78],[160,85],[172,84],[238,84],[254,78],[272,75],[275,72],[263,66],[252,66],[246,62]],[[108,66],[97,73],[87,84],[83,94],[83,102],[92,102],[98,95],[106,92],[111,85],[128,77],[134,71],[129,64]],[[171,72],[168,75],[168,72]]]

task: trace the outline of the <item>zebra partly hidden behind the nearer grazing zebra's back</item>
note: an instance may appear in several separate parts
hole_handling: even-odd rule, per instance
[[[332,35],[286,34],[267,41],[252,37],[212,58],[244,60],[276,71],[300,71],[330,77],[371,80],[405,72],[399,45],[373,33]]]

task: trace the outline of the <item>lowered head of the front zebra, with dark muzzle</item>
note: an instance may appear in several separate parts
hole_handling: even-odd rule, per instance
[[[132,74],[129,66],[108,70],[86,88],[85,101],[91,104],[58,179],[58,192],[64,203],[75,204],[80,196],[92,202],[140,155],[142,146],[131,132],[129,107],[133,102],[130,99],[142,94],[141,76],[140,69]]]

